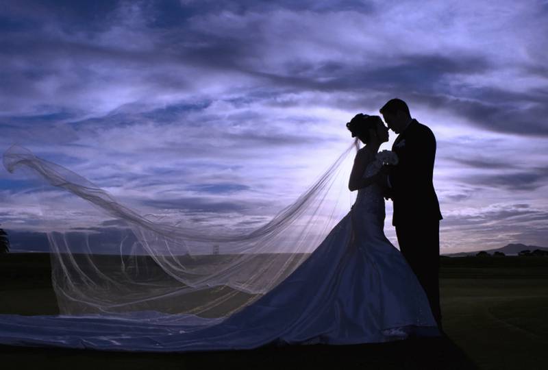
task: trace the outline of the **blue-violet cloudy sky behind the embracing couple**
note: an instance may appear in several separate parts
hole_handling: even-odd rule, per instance
[[[547,36],[545,0],[5,1],[0,147],[142,213],[260,225],[351,144],[354,114],[400,97],[436,135],[442,252],[548,247]],[[0,199],[14,249],[116,226],[3,168]]]

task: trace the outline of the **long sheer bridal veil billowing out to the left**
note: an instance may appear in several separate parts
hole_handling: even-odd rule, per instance
[[[90,243],[90,232],[47,233],[62,314],[155,311],[223,318],[282,282],[340,221],[355,147],[356,142],[292,204],[248,230],[144,216],[23,147],[5,151],[3,164],[10,172],[27,169],[119,221],[109,253]]]

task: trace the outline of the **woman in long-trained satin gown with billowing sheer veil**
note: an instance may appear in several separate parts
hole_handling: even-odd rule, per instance
[[[439,335],[423,288],[383,231],[384,197],[382,186],[377,183],[382,160],[377,151],[388,141],[388,128],[379,116],[364,114],[355,116],[347,128],[352,137],[365,144],[356,153],[349,177],[349,189],[358,190],[358,196],[351,210],[313,253],[306,258],[295,254],[294,260],[258,260],[258,254],[242,253],[228,262],[209,262],[206,270],[203,266],[194,267],[199,258],[186,262],[173,258],[173,248],[166,245],[188,249],[189,245],[192,248],[188,240],[197,244],[215,240],[233,245],[233,251],[245,252],[249,250],[242,250],[241,245],[251,243],[258,248],[256,245],[271,240],[277,240],[277,245],[279,240],[297,240],[288,236],[289,225],[299,221],[295,214],[311,199],[310,195],[327,186],[322,182],[325,178],[320,179],[321,186],[314,186],[306,197],[282,212],[283,217],[275,217],[244,236],[216,237],[185,225],[154,223],[117,204],[110,195],[74,173],[66,175],[62,168],[28,151],[8,149],[4,164],[9,171],[18,165],[30,167],[51,184],[123,219],[134,235],[132,247],[144,249],[149,262],[161,269],[153,271],[152,264],[144,264],[142,258],[134,256],[135,269],[129,271],[130,261],[124,257],[127,254],[121,253],[121,270],[116,270],[117,275],[105,276],[107,272],[97,262],[98,256],[71,253],[70,238],[52,233],[52,279],[63,314],[0,315],[0,343],[116,351],[206,351],[251,349],[267,344],[378,343],[410,335]],[[280,235],[286,239],[276,239]],[[307,240],[306,236],[299,234],[299,240]],[[120,249],[123,248],[125,245],[121,244]],[[84,269],[84,265],[88,268]],[[245,269],[253,273],[242,277]],[[163,273],[162,279],[156,278],[158,271]],[[142,279],[139,284],[137,275]],[[208,310],[228,301],[228,297],[234,298],[235,293],[221,295],[223,299],[209,295],[213,288],[222,291],[221,286],[230,286],[240,293],[261,294],[246,295],[244,303],[236,304],[237,309],[228,310],[230,314],[208,315],[209,311],[199,309],[205,307],[194,302],[203,299],[199,295],[215,302],[207,306]],[[193,308],[174,308],[175,301],[182,301],[177,298],[181,297],[179,293],[188,293],[188,289],[186,302],[194,304]],[[127,297],[132,299],[130,304]],[[166,299],[171,303],[162,303]],[[150,306],[151,302],[155,306]]]

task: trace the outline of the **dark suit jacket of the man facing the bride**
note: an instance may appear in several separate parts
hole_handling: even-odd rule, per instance
[[[399,134],[392,150],[399,159],[388,176],[394,204],[392,224],[442,219],[432,184],[436,157],[436,138],[432,130],[413,119]]]

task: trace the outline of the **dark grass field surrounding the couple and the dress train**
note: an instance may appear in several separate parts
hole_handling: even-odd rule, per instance
[[[547,369],[548,258],[442,258],[447,338],[127,354],[0,346],[5,369]],[[57,314],[47,255],[0,256],[0,313]]]

